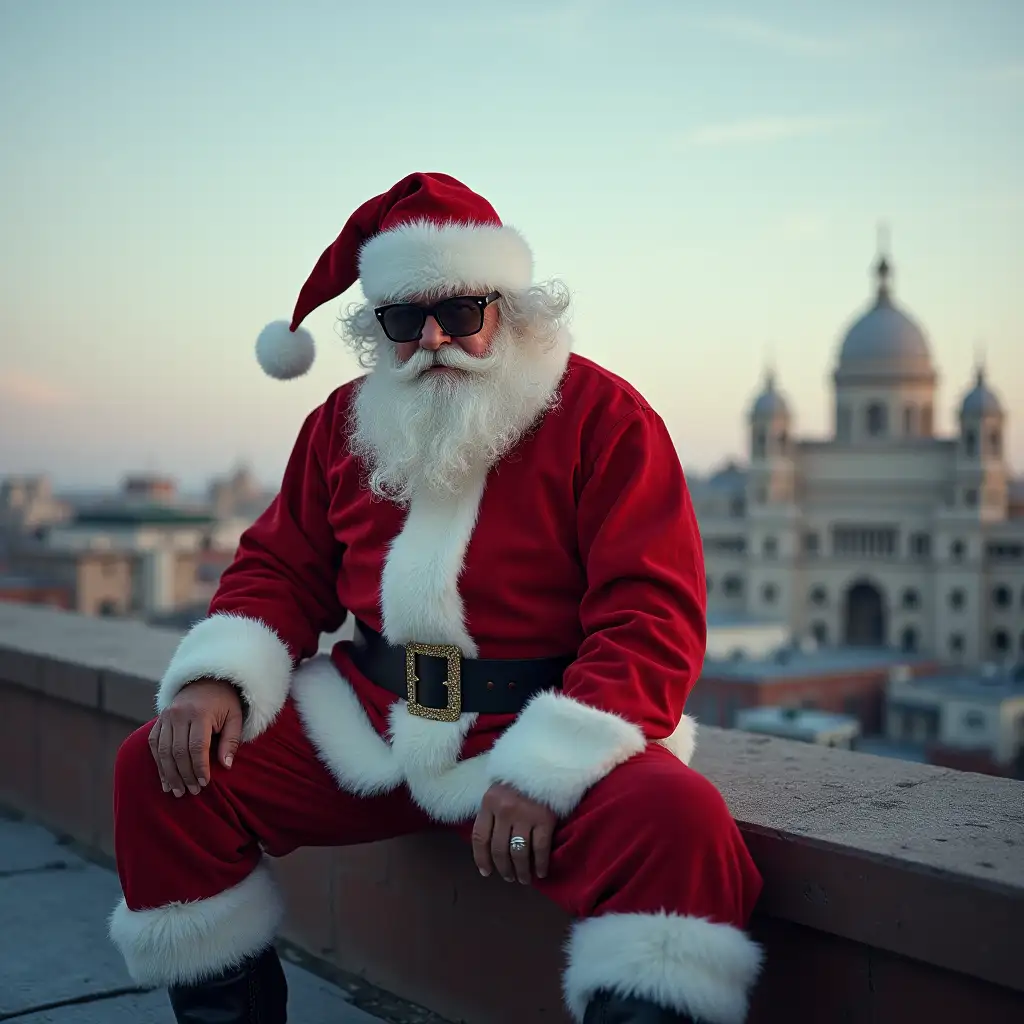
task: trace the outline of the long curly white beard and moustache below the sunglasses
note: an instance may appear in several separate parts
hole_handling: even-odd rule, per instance
[[[499,327],[486,355],[457,344],[398,366],[390,342],[355,396],[350,449],[374,494],[407,506],[418,490],[457,494],[511,451],[556,401],[567,351]],[[461,373],[432,373],[430,366]]]

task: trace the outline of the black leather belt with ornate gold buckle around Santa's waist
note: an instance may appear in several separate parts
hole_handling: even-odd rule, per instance
[[[514,715],[535,693],[559,688],[575,660],[463,657],[450,644],[392,646],[360,622],[349,652],[367,679],[404,697],[414,715],[436,722],[457,722],[463,712]]]

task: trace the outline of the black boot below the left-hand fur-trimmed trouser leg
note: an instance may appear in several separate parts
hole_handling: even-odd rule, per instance
[[[286,1024],[288,982],[270,946],[239,967],[167,994],[178,1024]]]

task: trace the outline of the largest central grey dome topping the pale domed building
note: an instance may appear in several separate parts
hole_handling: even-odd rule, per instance
[[[890,268],[885,257],[879,261],[877,272],[879,291],[874,305],[847,331],[840,349],[837,378],[933,379],[935,372],[925,333],[893,302]]]

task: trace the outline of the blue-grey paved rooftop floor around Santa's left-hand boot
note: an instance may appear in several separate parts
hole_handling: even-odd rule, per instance
[[[170,1024],[167,993],[132,983],[105,934],[117,877],[50,833],[0,818],[0,1020],[17,1024]],[[380,1024],[340,988],[285,964],[290,1016],[303,1024]]]

